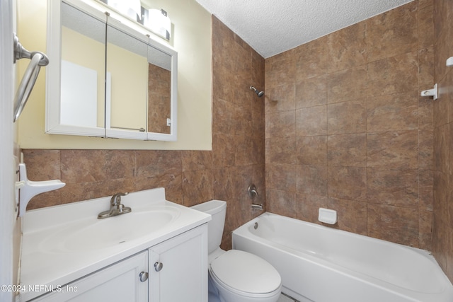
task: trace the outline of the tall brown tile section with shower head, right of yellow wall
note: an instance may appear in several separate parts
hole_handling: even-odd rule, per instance
[[[213,191],[228,203],[222,246],[231,247],[231,231],[262,213],[248,185],[265,204],[264,100],[250,90],[264,88],[264,59],[215,16],[212,71]]]

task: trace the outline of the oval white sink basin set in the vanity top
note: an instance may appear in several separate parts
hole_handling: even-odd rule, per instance
[[[81,219],[50,231],[40,244],[47,252],[83,252],[110,248],[155,233],[174,221],[177,208],[132,209],[107,219]]]

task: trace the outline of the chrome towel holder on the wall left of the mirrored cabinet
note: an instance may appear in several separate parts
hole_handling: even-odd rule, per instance
[[[25,50],[21,45],[21,42],[19,42],[18,36],[14,33],[14,63],[16,63],[17,59],[30,59],[31,61],[25,70],[25,74],[23,74],[23,78],[14,98],[13,122],[16,122],[19,115],[21,115],[33,86],[35,86],[41,66],[49,64],[49,58],[44,53],[29,52],[28,50]]]

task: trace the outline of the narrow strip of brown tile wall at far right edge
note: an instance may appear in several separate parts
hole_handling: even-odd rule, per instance
[[[434,226],[432,251],[453,281],[453,1],[434,1],[435,83],[434,102]]]

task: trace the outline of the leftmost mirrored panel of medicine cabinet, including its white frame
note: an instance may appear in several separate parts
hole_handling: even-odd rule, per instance
[[[59,1],[50,8],[46,132],[104,137],[106,16]]]

